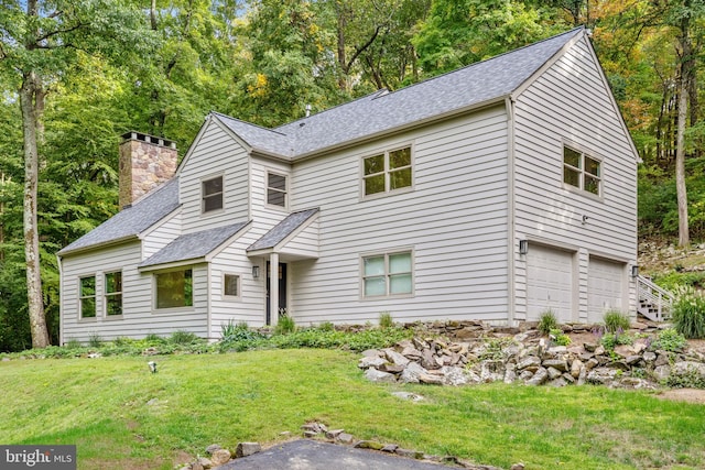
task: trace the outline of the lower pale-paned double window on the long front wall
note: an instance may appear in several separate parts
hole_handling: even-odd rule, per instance
[[[362,296],[382,297],[413,293],[411,251],[362,256]]]

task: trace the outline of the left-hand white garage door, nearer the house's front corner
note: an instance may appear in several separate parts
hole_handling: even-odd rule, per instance
[[[573,319],[573,254],[530,244],[527,253],[527,318],[551,309],[561,323]]]

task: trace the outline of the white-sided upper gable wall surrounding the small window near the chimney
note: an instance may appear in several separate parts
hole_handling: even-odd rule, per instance
[[[180,173],[183,232],[249,220],[249,156],[216,120],[206,124]],[[202,182],[224,178],[224,208],[202,214]]]

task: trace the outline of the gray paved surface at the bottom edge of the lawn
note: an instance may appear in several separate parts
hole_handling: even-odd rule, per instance
[[[443,470],[448,467],[349,446],[310,439],[292,440],[231,460],[218,470]]]

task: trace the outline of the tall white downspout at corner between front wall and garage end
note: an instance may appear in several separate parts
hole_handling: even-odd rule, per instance
[[[507,320],[510,326],[514,326],[517,313],[517,292],[514,270],[516,253],[516,201],[514,201],[514,102],[511,96],[505,98],[507,108]]]

